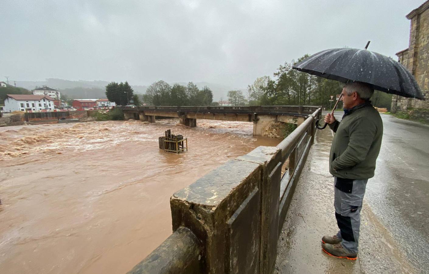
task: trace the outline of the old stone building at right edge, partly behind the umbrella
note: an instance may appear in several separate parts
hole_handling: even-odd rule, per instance
[[[429,108],[429,0],[407,15],[411,21],[409,47],[396,55],[417,80],[427,100],[410,99],[394,95],[392,111]]]

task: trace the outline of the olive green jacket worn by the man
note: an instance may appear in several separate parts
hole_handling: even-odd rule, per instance
[[[348,110],[341,122],[329,125],[335,132],[329,154],[329,172],[335,177],[362,180],[374,177],[381,147],[383,122],[370,102]]]

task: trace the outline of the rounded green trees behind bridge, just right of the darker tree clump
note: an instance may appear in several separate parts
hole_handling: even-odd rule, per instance
[[[218,105],[213,102],[213,92],[207,86],[201,90],[193,83],[187,86],[169,85],[162,80],[150,85],[143,95],[143,102],[155,106],[211,106]]]

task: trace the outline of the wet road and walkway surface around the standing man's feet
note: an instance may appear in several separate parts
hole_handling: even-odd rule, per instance
[[[320,249],[320,238],[338,230],[327,128],[318,131],[296,187],[276,273],[429,273],[429,126],[382,119],[383,143],[361,214],[359,259],[332,258]]]

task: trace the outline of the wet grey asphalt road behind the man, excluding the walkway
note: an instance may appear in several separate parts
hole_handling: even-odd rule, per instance
[[[429,126],[381,117],[383,141],[366,201],[410,262],[429,272]]]

